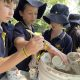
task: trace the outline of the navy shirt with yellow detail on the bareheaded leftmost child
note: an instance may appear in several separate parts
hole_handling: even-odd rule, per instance
[[[11,53],[14,26],[11,23],[2,23],[0,26],[0,57],[6,57]],[[0,74],[0,79],[5,73]]]

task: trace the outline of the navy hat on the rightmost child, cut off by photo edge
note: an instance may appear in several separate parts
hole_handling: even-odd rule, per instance
[[[78,24],[80,25],[80,14],[70,14],[69,21],[71,24]]]

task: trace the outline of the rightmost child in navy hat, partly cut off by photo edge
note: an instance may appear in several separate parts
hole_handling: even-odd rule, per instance
[[[70,27],[67,29],[67,33],[72,37],[73,49],[72,51],[77,51],[80,47],[80,14],[70,14],[69,15]]]

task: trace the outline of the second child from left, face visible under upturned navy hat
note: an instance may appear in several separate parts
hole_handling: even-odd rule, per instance
[[[14,12],[14,18],[19,22],[15,25],[13,31],[15,48],[13,48],[12,51],[16,51],[16,49],[20,50],[33,37],[27,30],[34,32],[33,24],[36,19],[42,17],[46,5],[46,3],[37,0],[19,0],[19,4]],[[29,71],[28,64],[31,58],[32,56],[17,65],[18,69]]]

